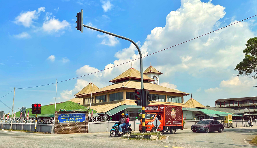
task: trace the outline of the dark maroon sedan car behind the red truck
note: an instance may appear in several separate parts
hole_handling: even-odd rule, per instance
[[[221,133],[224,130],[224,126],[217,120],[202,119],[199,122],[196,122],[196,124],[192,125],[191,130],[193,132],[209,133],[209,131],[218,131]]]

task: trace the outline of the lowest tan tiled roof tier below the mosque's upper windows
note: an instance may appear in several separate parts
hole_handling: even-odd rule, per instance
[[[183,103],[173,103],[173,102],[155,102],[155,101],[150,101],[150,105],[155,105],[155,104],[162,104],[162,105],[173,105],[173,106],[182,106],[183,108],[195,108],[192,106],[185,105]],[[91,108],[93,110],[96,110],[97,113],[100,112],[108,112],[109,110],[116,108],[120,105],[137,105],[135,103],[135,100],[117,100],[117,101],[109,101],[109,102],[101,102],[101,103],[95,103],[91,104]],[[89,107],[89,104],[83,105],[85,107]]]

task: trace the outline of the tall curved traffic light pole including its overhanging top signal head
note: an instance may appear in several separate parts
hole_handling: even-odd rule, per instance
[[[142,58],[142,53],[140,51],[140,48],[138,47],[138,45],[131,39],[129,38],[126,38],[124,36],[119,36],[117,34],[114,34],[114,33],[110,33],[110,32],[107,32],[107,31],[104,31],[104,30],[100,30],[100,29],[97,29],[97,28],[94,28],[94,27],[91,27],[91,26],[88,26],[88,25],[84,25],[83,24],[83,10],[81,9],[81,12],[77,13],[77,30],[80,30],[81,32],[83,32],[83,26],[84,27],[87,27],[89,29],[93,29],[93,30],[96,30],[96,31],[99,31],[99,32],[102,32],[102,33],[105,33],[105,34],[109,34],[111,36],[115,36],[117,38],[121,38],[121,39],[124,39],[124,40],[128,40],[130,42],[132,42],[137,50],[138,50],[138,53],[139,53],[139,56],[140,56],[140,77],[141,77],[141,98],[142,98],[142,132],[145,133],[145,101],[143,101],[144,99],[144,79],[143,79],[143,58]],[[81,28],[80,28],[81,26]]]

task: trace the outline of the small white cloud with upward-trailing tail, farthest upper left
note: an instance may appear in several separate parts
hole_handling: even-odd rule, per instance
[[[45,7],[40,7],[37,9],[37,11],[34,10],[34,11],[21,12],[20,15],[15,17],[14,23],[18,25],[21,24],[25,27],[30,27],[33,23],[33,20],[37,20],[41,11],[44,12]]]

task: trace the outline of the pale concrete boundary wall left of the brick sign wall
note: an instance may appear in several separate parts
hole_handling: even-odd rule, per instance
[[[10,129],[11,123],[0,123],[0,129]],[[35,131],[35,123],[12,123],[12,129],[14,130],[26,130]],[[41,123],[37,124],[37,132],[51,133],[53,134],[54,124]]]

